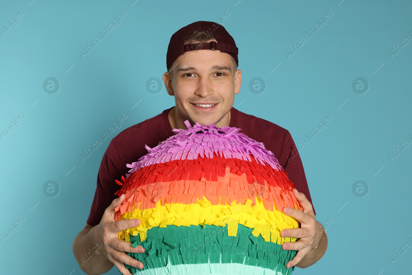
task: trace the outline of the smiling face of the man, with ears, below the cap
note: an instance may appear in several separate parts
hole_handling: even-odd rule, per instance
[[[185,52],[173,66],[171,74],[164,73],[163,81],[168,94],[175,96],[183,120],[210,125],[230,111],[234,95],[240,91],[241,71],[233,72],[229,54],[219,50]],[[197,106],[200,104],[206,106]]]

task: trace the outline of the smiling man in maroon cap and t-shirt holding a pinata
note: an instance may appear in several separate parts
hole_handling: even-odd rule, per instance
[[[240,128],[239,132],[262,142],[274,153],[290,181],[295,183],[293,193],[303,209],[303,212],[289,207],[282,209],[301,223],[301,228],[281,232],[281,237],[300,238],[282,245],[285,250],[299,250],[286,268],[305,268],[321,259],[328,240],[316,221],[302,161],[290,133],[233,108],[234,95],[241,87],[237,54],[232,36],[214,22],[197,21],[173,34],[166,56],[168,72],[164,73],[163,81],[168,94],[175,97],[176,106],[123,130],[110,142],[98,172],[89,219],[73,242],[73,254],[85,273],[105,273],[115,265],[122,274],[130,275],[124,263],[143,268],[143,263],[125,252],[143,252],[144,248],[131,247],[129,242],[118,239],[119,231],[138,226],[140,220],[115,222],[114,209],[124,200],[124,195],[119,198],[114,195],[120,188],[115,180],[128,172],[126,164],[147,153],[145,144],[153,148],[174,135],[173,129],[187,129],[185,120],[192,125],[199,122]]]

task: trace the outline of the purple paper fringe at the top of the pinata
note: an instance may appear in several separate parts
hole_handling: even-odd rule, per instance
[[[154,163],[164,163],[171,160],[194,160],[197,157],[213,157],[213,152],[220,157],[236,158],[251,161],[250,155],[262,165],[270,165],[273,169],[283,169],[274,154],[265,149],[263,143],[250,139],[239,133],[236,127],[202,126],[196,123],[193,127],[186,120],[187,130],[173,129],[176,135],[169,137],[154,148],[145,145],[148,154],[140,157],[127,167],[133,173],[141,167]],[[199,134],[201,133],[201,134]],[[126,174],[129,176],[130,174]]]

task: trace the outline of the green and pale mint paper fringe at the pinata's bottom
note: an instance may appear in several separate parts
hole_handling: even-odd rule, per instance
[[[261,235],[252,235],[252,230],[239,224],[236,237],[233,237],[227,235],[227,226],[154,227],[147,230],[143,242],[139,235],[130,235],[132,246],[140,244],[145,252],[127,254],[141,261],[143,269],[125,266],[134,275],[218,275],[230,274],[233,270],[245,275],[254,272],[290,275],[295,267],[287,269],[286,263],[297,251],[283,250],[280,244],[265,242]],[[237,263],[236,269],[234,263]]]

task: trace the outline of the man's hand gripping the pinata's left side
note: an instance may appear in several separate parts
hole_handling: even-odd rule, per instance
[[[125,252],[142,253],[145,249],[138,245],[136,248],[130,242],[119,239],[118,233],[127,228],[140,225],[140,219],[129,219],[115,221],[115,208],[122,204],[125,195],[122,194],[106,208],[100,223],[91,229],[93,232],[94,243],[103,243],[100,248],[107,259],[111,261],[123,275],[132,275],[124,266],[134,266],[142,269],[143,263],[128,256]]]

